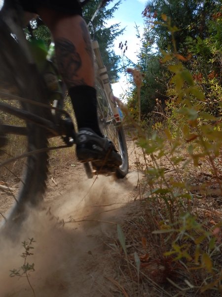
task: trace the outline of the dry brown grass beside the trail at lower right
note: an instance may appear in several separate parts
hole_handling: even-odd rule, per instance
[[[198,269],[193,269],[195,264],[192,257],[195,255],[196,245],[190,238],[182,237],[180,243],[190,245],[187,252],[191,255],[191,259],[181,257],[176,260],[175,254],[166,255],[165,253],[172,250],[172,244],[178,233],[155,233],[173,226],[180,228],[180,219],[187,211],[207,232],[217,228],[221,222],[222,195],[217,178],[210,173],[209,163],[205,159],[199,167],[191,163],[184,167],[188,159],[185,148],[182,148],[180,154],[183,154],[184,160],[177,166],[174,166],[167,156],[159,159],[158,165],[164,168],[166,182],[183,180],[193,199],[185,198],[177,201],[169,199],[171,207],[168,207],[164,195],[150,195],[150,184],[147,178],[138,181],[141,187],[141,199],[134,202],[131,207],[132,212],[121,226],[126,238],[127,256],[117,239],[114,243],[117,248],[113,249],[112,256],[119,275],[118,284],[125,289],[127,296],[221,296],[216,286],[213,286],[215,290],[209,289],[203,292],[204,282],[205,284],[213,282],[216,275],[212,277],[206,267],[201,265]],[[150,158],[146,163],[151,165]],[[163,187],[163,183],[156,181],[152,184],[152,188],[157,187]],[[203,234],[202,230],[195,230],[195,226],[193,228],[197,238]],[[217,230],[216,245],[219,246],[219,250],[212,255],[212,262],[215,273],[218,271],[220,274],[222,231],[221,228],[215,230]],[[209,242],[204,240],[201,248],[207,250],[208,247]],[[135,253],[140,259],[139,277]]]

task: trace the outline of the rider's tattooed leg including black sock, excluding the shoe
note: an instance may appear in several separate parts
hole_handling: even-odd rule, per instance
[[[102,136],[97,120],[91,39],[85,21],[80,15],[45,7],[37,12],[52,33],[59,71],[68,87],[78,128],[91,128]]]

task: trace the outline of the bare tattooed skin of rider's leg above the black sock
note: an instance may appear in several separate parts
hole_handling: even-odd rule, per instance
[[[59,71],[68,89],[95,86],[93,53],[85,21],[80,15],[62,15],[49,9],[39,9],[55,42]]]

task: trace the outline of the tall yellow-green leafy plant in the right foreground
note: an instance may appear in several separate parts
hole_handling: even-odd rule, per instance
[[[162,19],[161,25],[172,34],[173,50],[162,51],[161,62],[165,63],[170,77],[168,95],[171,101],[168,106],[173,112],[174,127],[172,129],[171,125],[162,131],[155,129],[150,134],[138,122],[134,123],[134,139],[143,149],[148,164],[145,197],[155,217],[157,230],[153,235],[161,236],[164,241],[164,256],[180,263],[190,280],[194,279],[193,283],[187,281],[189,285],[183,292],[217,290],[221,294],[221,267],[216,259],[221,253],[219,233],[222,222],[213,227],[207,221],[201,222],[194,205],[207,195],[211,184],[196,187],[204,193],[198,195],[189,173],[197,173],[202,163],[206,164],[204,173],[215,179],[222,195],[222,102],[220,99],[214,102],[219,110],[217,114],[206,108],[209,99],[205,98],[204,89],[185,67],[191,56],[184,57],[176,49],[174,33],[178,29],[171,26],[166,15],[162,15]],[[221,94],[216,83],[213,90],[215,94]],[[168,174],[163,160],[171,166],[174,175]]]

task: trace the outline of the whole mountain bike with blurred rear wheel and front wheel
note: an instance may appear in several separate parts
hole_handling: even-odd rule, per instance
[[[21,220],[26,205],[37,206],[42,201],[49,151],[72,147],[76,142],[73,120],[64,109],[66,88],[58,79],[53,55],[45,63],[56,85],[54,91],[30,50],[22,13],[21,7],[12,6],[10,0],[0,10],[0,191],[5,191],[3,195],[0,192],[0,214],[1,221],[7,223]],[[124,178],[128,173],[128,154],[121,117],[97,42],[93,43],[93,49],[98,70],[99,125],[121,154],[122,165],[114,174]],[[60,137],[61,145],[49,146],[53,137]],[[92,178],[90,163],[84,163],[84,167],[88,178]],[[19,183],[16,194],[8,180]],[[11,209],[6,216],[8,201]]]

